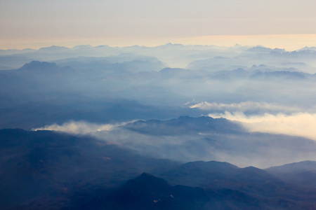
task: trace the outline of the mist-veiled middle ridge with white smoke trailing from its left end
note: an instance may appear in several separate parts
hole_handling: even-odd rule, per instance
[[[219,123],[216,119],[204,118],[210,120],[210,123]],[[180,162],[216,160],[231,162],[239,167],[267,168],[289,162],[316,160],[314,153],[316,141],[291,137],[289,136],[291,133],[282,133],[281,130],[279,132],[264,130],[265,124],[262,125],[262,130],[252,131],[246,123],[227,121],[224,124],[220,123],[225,127],[214,130],[204,127],[203,121],[202,118],[187,118],[188,124],[183,125],[181,129],[176,122],[185,123],[183,118],[176,121],[134,121],[120,125],[96,125],[72,121],[34,130],[54,130],[79,136],[88,134],[107,144],[128,148],[141,155]],[[195,122],[196,127],[190,127],[192,125],[190,122]],[[244,127],[239,127],[240,125]],[[271,125],[274,125],[273,122]],[[261,128],[261,126],[254,127]],[[229,131],[229,128],[232,130]],[[268,134],[269,132],[275,134]]]

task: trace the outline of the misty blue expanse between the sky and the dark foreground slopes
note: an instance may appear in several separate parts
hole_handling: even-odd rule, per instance
[[[168,43],[0,53],[1,128],[89,135],[182,162],[315,160],[315,48]]]

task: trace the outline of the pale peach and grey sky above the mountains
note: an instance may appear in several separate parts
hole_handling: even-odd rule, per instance
[[[0,48],[316,45],[314,0],[0,0]]]

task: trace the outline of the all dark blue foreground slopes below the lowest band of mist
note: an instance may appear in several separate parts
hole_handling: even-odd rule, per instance
[[[182,164],[50,131],[1,130],[0,139],[1,209],[316,207],[312,161],[263,170],[216,161]],[[310,176],[302,183],[298,174]]]

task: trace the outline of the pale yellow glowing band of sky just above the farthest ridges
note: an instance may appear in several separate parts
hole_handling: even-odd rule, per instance
[[[181,43],[183,45],[263,45],[267,48],[282,48],[298,50],[300,48],[316,47],[316,34],[276,34],[276,35],[228,35],[228,36],[194,36],[194,37],[105,37],[86,39],[2,39],[0,49],[39,49],[51,45],[74,47],[75,45],[110,45],[124,47],[131,45],[145,45],[154,47],[166,43]]]

